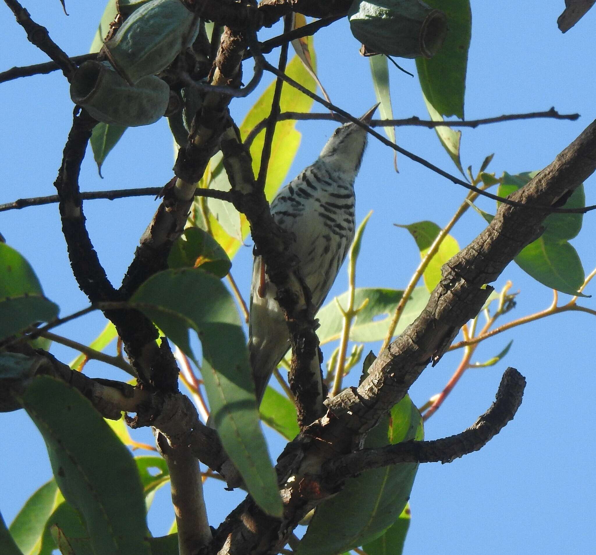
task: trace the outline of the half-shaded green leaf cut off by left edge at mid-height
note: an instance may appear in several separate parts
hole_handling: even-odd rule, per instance
[[[46,299],[29,262],[0,243],[0,339],[57,315],[58,305]]]

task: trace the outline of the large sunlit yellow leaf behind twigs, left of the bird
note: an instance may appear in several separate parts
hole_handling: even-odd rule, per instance
[[[311,53],[312,69],[316,72],[316,60],[315,51],[313,48],[313,37],[308,38],[309,41],[309,52]],[[294,56],[287,65],[286,75],[291,77],[305,86],[309,91],[315,92],[316,83],[302,63],[298,56]],[[250,108],[249,113],[246,114],[242,125],[240,126],[240,135],[244,141],[249,132],[257,125],[260,121],[269,116],[271,111],[271,102],[273,100],[273,92],[275,89],[275,82],[266,88],[265,92],[260,98],[254,103],[253,107]],[[284,83],[281,89],[280,108],[281,111],[299,111],[308,112],[311,110],[313,100],[307,97],[302,92],[297,91],[293,87]],[[290,166],[296,157],[298,147],[300,146],[300,132],[296,131],[296,122],[292,120],[285,120],[283,122],[277,122],[275,125],[275,135],[271,144],[271,158],[269,159],[269,167],[267,170],[267,179],[265,181],[265,196],[267,200],[271,202],[275,193],[284,184],[287,177]],[[254,175],[259,175],[260,166],[260,155],[263,150],[263,143],[265,141],[265,131],[261,131],[250,145],[250,155],[253,159],[253,172]],[[219,157],[213,159],[211,167],[216,168],[218,165]],[[217,171],[217,170],[216,170]],[[225,175],[225,171],[224,171]],[[223,179],[223,178],[222,178]],[[227,176],[226,176],[227,179]],[[229,185],[228,185],[229,188]],[[200,200],[195,201],[200,202]],[[228,203],[229,204],[229,203]],[[197,210],[200,213],[200,210]],[[226,233],[213,215],[210,215],[210,225],[213,231],[213,238],[221,244],[229,258],[234,258],[234,255],[238,252],[242,242],[238,240],[234,235]],[[244,240],[249,232],[249,223],[244,215],[240,215],[241,222],[241,235]]]

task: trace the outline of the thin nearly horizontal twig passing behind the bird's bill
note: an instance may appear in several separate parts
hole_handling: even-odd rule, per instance
[[[303,27],[300,27],[303,29]],[[550,119],[562,119],[562,120],[570,120],[575,122],[578,119],[579,114],[560,114],[557,110],[550,108],[547,111],[538,111],[538,112],[529,112],[526,114],[503,114],[502,116],[495,116],[495,117],[485,117],[483,119],[470,119],[470,120],[449,120],[445,122],[433,122],[432,120],[423,120],[417,116],[407,117],[405,119],[373,119],[368,124],[371,127],[384,127],[387,125],[392,125],[396,127],[405,127],[405,126],[415,126],[415,127],[427,127],[429,129],[433,129],[436,127],[470,127],[472,129],[477,128],[479,125],[487,125],[489,123],[499,123],[499,122],[511,122],[515,120],[523,120],[523,119],[536,119],[536,118],[550,118]],[[293,111],[285,111],[282,112],[278,118],[278,122],[284,120],[296,120],[296,121],[306,121],[306,120],[316,120],[316,121],[330,121],[330,122],[346,122],[347,119],[339,116],[338,114],[330,114],[328,112],[293,112]],[[244,144],[249,146],[254,137],[259,134],[265,128],[267,120],[263,119],[257,125],[255,125],[246,136]]]

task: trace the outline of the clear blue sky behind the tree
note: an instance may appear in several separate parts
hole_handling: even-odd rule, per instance
[[[85,53],[103,12],[103,2],[67,3],[66,17],[59,2],[33,3],[32,17],[48,27],[52,38],[69,54]],[[39,5],[43,4],[43,5]],[[596,117],[596,12],[588,13],[563,35],[556,20],[563,1],[485,4],[473,2],[473,30],[468,63],[465,116],[467,119],[504,113],[548,110],[581,114],[576,122],[529,120],[464,129],[462,163],[477,170],[486,155],[495,153],[489,170],[518,173],[550,163]],[[46,61],[30,45],[7,8],[0,8],[4,34],[0,70]],[[266,30],[262,38],[281,31]],[[359,115],[375,102],[368,61],[346,21],[317,33],[318,73],[331,100]],[[269,58],[277,61],[274,52]],[[414,62],[401,60],[415,71]],[[390,67],[395,117],[427,117],[417,79]],[[265,76],[262,90],[271,79]],[[232,102],[232,116],[240,121],[255,97]],[[54,194],[52,183],[70,128],[72,102],[66,79],[58,72],[0,85],[4,107],[0,133],[0,203],[20,197]],[[330,122],[299,122],[303,134],[299,154],[288,179],[311,163],[335,127]],[[433,131],[398,128],[398,143],[449,172],[456,173]],[[403,288],[418,265],[419,254],[409,234],[393,224],[432,220],[443,226],[461,204],[465,192],[404,157],[400,173],[393,170],[393,154],[370,140],[356,181],[357,219],[374,210],[364,235],[357,270],[358,286]],[[150,128],[129,129],[97,175],[91,153],[83,163],[82,190],[156,187],[172,177],[172,139],[165,120]],[[596,204],[595,178],[586,182],[586,203]],[[491,200],[479,206],[494,212]],[[116,201],[88,201],[88,230],[113,283],[120,283],[142,231],[157,207],[152,197]],[[593,237],[595,216],[585,216],[572,241],[586,274],[596,266]],[[452,234],[465,246],[483,228],[468,212]],[[46,295],[61,306],[61,314],[86,306],[70,273],[60,231],[57,205],[32,207],[0,215],[0,232],[8,244],[32,263]],[[232,272],[247,294],[252,244],[241,249]],[[504,317],[519,318],[547,308],[552,292],[510,265],[496,281],[500,289],[513,281],[520,291],[517,306]],[[346,289],[345,268],[330,293]],[[596,292],[596,283],[586,293]],[[568,296],[561,294],[561,302]],[[596,308],[594,298],[583,304]],[[405,553],[585,553],[596,541],[592,417],[594,389],[594,317],[562,314],[507,331],[483,343],[475,360],[495,355],[513,339],[504,361],[491,368],[469,370],[442,408],[426,424],[426,438],[458,433],[470,426],[494,399],[502,372],[516,367],[527,379],[526,393],[516,418],[482,451],[451,464],[427,464],[418,470],[411,495],[412,524]],[[58,333],[90,342],[103,328],[100,315],[65,325]],[[367,345],[367,349],[378,345]],[[70,361],[75,353],[55,346],[54,354]],[[411,389],[422,405],[439,392],[457,367],[461,353],[448,354],[427,368]],[[126,379],[118,371],[90,363],[91,376]],[[27,497],[51,476],[44,443],[23,411],[0,415],[4,448],[0,463],[0,509],[10,522]],[[142,432],[139,437],[150,441]],[[272,433],[272,455],[283,443]],[[221,482],[208,481],[206,495],[212,525],[225,517],[243,497],[225,492]],[[150,513],[154,534],[165,534],[173,512],[169,493],[162,489]]]

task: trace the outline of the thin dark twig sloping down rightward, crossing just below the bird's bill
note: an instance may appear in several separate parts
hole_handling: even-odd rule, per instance
[[[255,54],[255,57],[256,57],[256,54]],[[414,154],[414,153],[410,152],[409,150],[405,150],[405,148],[402,148],[399,145],[396,145],[395,142],[390,141],[389,139],[383,137],[383,135],[377,133],[373,128],[368,126],[366,123],[361,122],[361,120],[352,116],[352,114],[349,114],[349,113],[347,113],[347,111],[342,110],[342,108],[339,108],[339,107],[335,106],[334,104],[327,102],[326,100],[324,100],[324,98],[321,98],[321,97],[319,97],[319,95],[315,94],[314,92],[309,91],[305,86],[300,85],[300,83],[296,82],[294,79],[291,79],[291,77],[288,77],[284,73],[280,73],[278,71],[277,67],[272,66],[270,63],[268,63],[268,61],[265,60],[265,58],[263,58],[262,64],[263,64],[263,68],[266,69],[268,72],[271,72],[274,75],[281,77],[281,79],[283,79],[285,82],[289,83],[291,86],[293,86],[295,89],[299,90],[300,92],[302,92],[309,98],[316,100],[319,104],[322,104],[323,106],[325,106],[325,108],[329,108],[329,110],[336,111],[337,113],[341,114],[343,117],[345,117],[350,122],[358,125],[358,127],[365,129],[370,135],[373,135],[374,138],[381,141],[384,145],[387,145],[388,147],[393,148],[393,150],[399,152],[400,154],[403,154],[403,156],[406,156],[409,159],[414,160],[414,162],[417,162],[418,164],[424,166],[425,168],[428,168],[428,169],[432,170],[433,172],[438,173],[440,176],[443,176],[444,178],[449,179],[449,181],[453,182],[455,185],[461,185],[461,187],[465,187],[466,189],[468,189],[470,191],[474,191],[474,193],[478,193],[478,194],[482,195],[483,197],[488,197],[489,199],[496,200],[496,201],[499,201],[504,204],[508,204],[509,206],[523,207],[526,209],[532,208],[535,210],[544,210],[545,212],[548,212],[548,213],[558,212],[558,213],[574,213],[574,214],[582,213],[583,214],[583,213],[589,212],[590,210],[596,209],[596,205],[586,206],[584,208],[579,208],[579,209],[577,209],[577,208],[566,209],[566,208],[552,208],[550,206],[538,206],[538,205],[532,205],[532,204],[523,204],[523,203],[519,203],[514,200],[511,200],[509,198],[504,199],[503,197],[499,197],[499,196],[493,195],[491,193],[486,193],[486,191],[483,191],[482,189],[476,187],[475,185],[470,185],[468,182],[462,181],[460,178],[456,177],[455,175],[452,175],[451,173],[448,173],[445,170],[438,168],[434,164],[430,163],[428,160],[425,160],[424,158],[417,156],[417,154]]]

